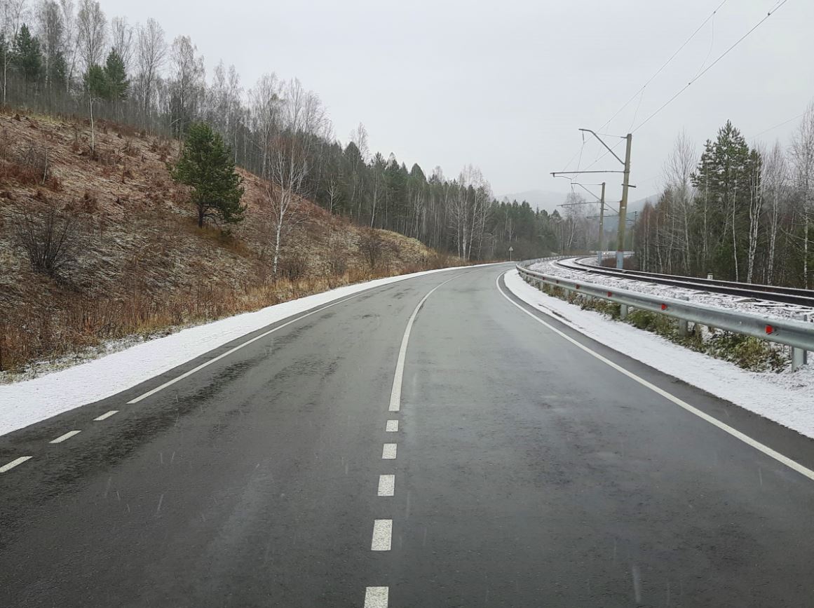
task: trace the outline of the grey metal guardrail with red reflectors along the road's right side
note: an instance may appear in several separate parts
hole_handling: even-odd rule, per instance
[[[545,258],[545,260],[552,259],[557,258]],[[687,332],[687,323],[691,322],[732,331],[736,334],[750,335],[768,342],[785,344],[793,349],[792,366],[794,369],[805,363],[807,351],[814,351],[814,323],[762,317],[754,313],[693,304],[685,300],[606,287],[597,283],[572,281],[554,274],[540,273],[526,268],[536,261],[540,260],[526,260],[516,265],[523,278],[538,284],[562,287],[567,291],[620,304],[623,319],[627,317],[630,308],[637,308],[678,319],[679,333],[682,335]]]

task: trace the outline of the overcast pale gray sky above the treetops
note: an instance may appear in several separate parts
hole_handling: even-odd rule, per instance
[[[624,134],[782,0],[727,0],[681,54],[607,127]],[[534,2],[168,2],[102,0],[107,16],[154,17],[192,37],[208,75],[219,59],[250,86],[263,72],[319,94],[337,138],[360,121],[370,148],[448,176],[479,166],[496,195],[566,192],[549,176],[580,150],[721,0]],[[633,198],[659,187],[685,129],[701,149],[731,119],[747,138],[814,98],[814,2],[788,0],[633,139]],[[706,62],[706,63],[705,63]],[[759,139],[786,142],[796,121]],[[582,168],[599,147],[584,147]],[[570,168],[575,168],[576,159]],[[595,168],[614,168],[607,157]],[[591,179],[585,177],[585,181]],[[618,197],[618,176],[608,176]]]

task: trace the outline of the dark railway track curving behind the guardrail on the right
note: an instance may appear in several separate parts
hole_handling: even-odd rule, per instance
[[[584,270],[589,273],[605,274],[610,277],[628,278],[634,281],[646,281],[685,287],[696,291],[707,291],[727,295],[738,295],[743,298],[755,300],[768,300],[784,304],[796,304],[814,308],[814,290],[796,289],[794,287],[777,287],[775,285],[753,285],[734,281],[720,281],[718,279],[682,277],[676,274],[646,273],[641,270],[620,270],[585,264],[578,259],[558,260],[558,266],[568,269]]]

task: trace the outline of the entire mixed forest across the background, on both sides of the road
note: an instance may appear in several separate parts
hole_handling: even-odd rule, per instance
[[[0,0],[2,104],[100,118],[164,138],[205,122],[234,163],[265,177],[274,208],[271,247],[300,221],[291,202],[313,200],[356,225],[394,230],[465,260],[584,252],[599,244],[595,206],[572,192],[562,212],[498,201],[466,165],[407,167],[371,151],[359,124],[336,137],[319,96],[267,72],[244,85],[222,61],[211,74],[188,36],[168,41],[148,19],[129,24],[94,0]],[[750,144],[731,123],[698,149],[681,134],[663,189],[628,233],[641,269],[811,287],[814,107],[787,147]],[[633,177],[635,182],[635,176]],[[606,218],[606,226],[616,218]],[[615,243],[612,230],[604,245]]]

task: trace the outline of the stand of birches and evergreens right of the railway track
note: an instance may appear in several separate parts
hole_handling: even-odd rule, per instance
[[[814,103],[791,142],[750,145],[729,121],[698,155],[680,135],[634,229],[642,269],[812,287]]]

